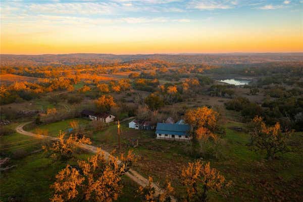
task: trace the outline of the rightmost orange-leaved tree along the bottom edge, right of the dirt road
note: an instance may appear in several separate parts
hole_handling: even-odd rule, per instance
[[[181,173],[182,184],[186,187],[185,201],[200,202],[207,200],[209,190],[220,191],[229,186],[219,171],[211,168],[210,163],[204,165],[200,160],[188,163]]]

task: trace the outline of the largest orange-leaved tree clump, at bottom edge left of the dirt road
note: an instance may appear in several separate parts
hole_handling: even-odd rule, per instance
[[[59,172],[56,182],[51,186],[55,194],[51,201],[63,202],[70,199],[79,201],[117,200],[122,190],[121,176],[127,172],[134,161],[134,154],[129,151],[121,156],[121,162],[112,155],[105,158],[99,148],[97,153],[87,160],[79,160],[81,174],[69,165]]]

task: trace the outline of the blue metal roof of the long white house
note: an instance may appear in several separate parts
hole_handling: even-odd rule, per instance
[[[190,126],[187,124],[164,124],[158,123],[156,134],[169,134],[169,135],[187,135]]]

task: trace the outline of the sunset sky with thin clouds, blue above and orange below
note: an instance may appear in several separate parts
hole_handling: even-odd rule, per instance
[[[303,0],[0,0],[1,54],[303,52]]]

